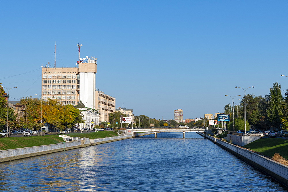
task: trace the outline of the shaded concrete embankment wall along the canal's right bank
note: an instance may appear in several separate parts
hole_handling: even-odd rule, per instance
[[[239,146],[227,143],[220,139],[216,139],[210,135],[204,135],[203,133],[198,133],[203,137],[215,142],[217,145],[226,149],[235,156],[241,158],[245,162],[251,164],[257,169],[261,170],[265,174],[271,176],[280,183],[288,186],[288,166],[273,161],[269,158],[266,158],[262,155],[249,151],[247,149],[241,148]]]

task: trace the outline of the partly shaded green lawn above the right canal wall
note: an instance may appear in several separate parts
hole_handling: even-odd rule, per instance
[[[280,138],[261,138],[243,147],[257,151],[269,157],[279,153],[285,159],[288,159],[288,140]]]

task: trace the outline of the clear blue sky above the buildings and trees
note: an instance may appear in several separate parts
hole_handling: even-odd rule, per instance
[[[183,109],[184,119],[201,117],[223,112],[232,103],[225,95],[243,96],[235,86],[255,86],[247,90],[255,95],[268,94],[273,82],[288,88],[280,76],[288,76],[287,1],[1,1],[0,7],[0,82],[18,87],[10,100],[41,94],[41,65],[54,66],[55,41],[56,67],[74,67],[83,44],[83,57],[98,58],[96,88],[136,115],[173,119],[173,110]]]

